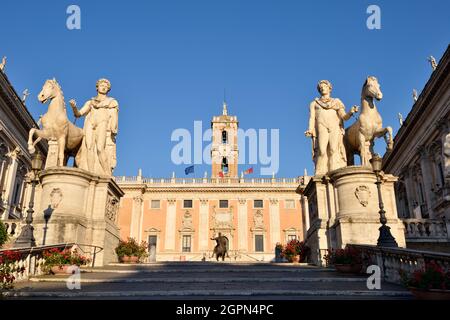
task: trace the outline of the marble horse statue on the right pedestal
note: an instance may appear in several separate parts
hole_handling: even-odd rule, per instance
[[[359,154],[361,165],[370,166],[375,138],[384,137],[387,150],[392,150],[392,128],[383,128],[383,121],[374,103],[374,99],[380,101],[382,98],[383,93],[377,78],[367,77],[361,91],[361,114],[358,120],[345,130],[344,145],[348,165],[353,165],[354,155]]]

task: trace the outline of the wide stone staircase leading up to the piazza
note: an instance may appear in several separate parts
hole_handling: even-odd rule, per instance
[[[365,275],[288,263],[167,262],[111,264],[80,273],[81,289],[69,275],[19,282],[8,298],[30,299],[411,299],[403,287],[383,283],[369,290]],[[72,276],[73,277],[73,276]]]

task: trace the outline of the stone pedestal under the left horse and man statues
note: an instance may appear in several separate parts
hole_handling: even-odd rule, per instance
[[[116,262],[119,243],[117,212],[123,191],[110,177],[68,167],[52,167],[41,174],[34,213],[37,245],[76,243],[95,266]]]

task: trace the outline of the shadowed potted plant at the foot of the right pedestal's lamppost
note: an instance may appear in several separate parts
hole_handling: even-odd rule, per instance
[[[362,269],[361,252],[349,246],[345,249],[329,249],[324,259],[327,265],[334,266],[342,273],[360,273]]]

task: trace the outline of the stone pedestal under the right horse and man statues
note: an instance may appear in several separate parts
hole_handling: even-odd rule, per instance
[[[397,178],[383,175],[382,200],[387,225],[399,247],[405,247],[403,223],[398,219],[394,193]],[[309,213],[307,244],[312,260],[323,263],[327,249],[347,244],[376,245],[381,227],[376,176],[370,168],[348,166],[323,177],[313,177],[302,194]]]

